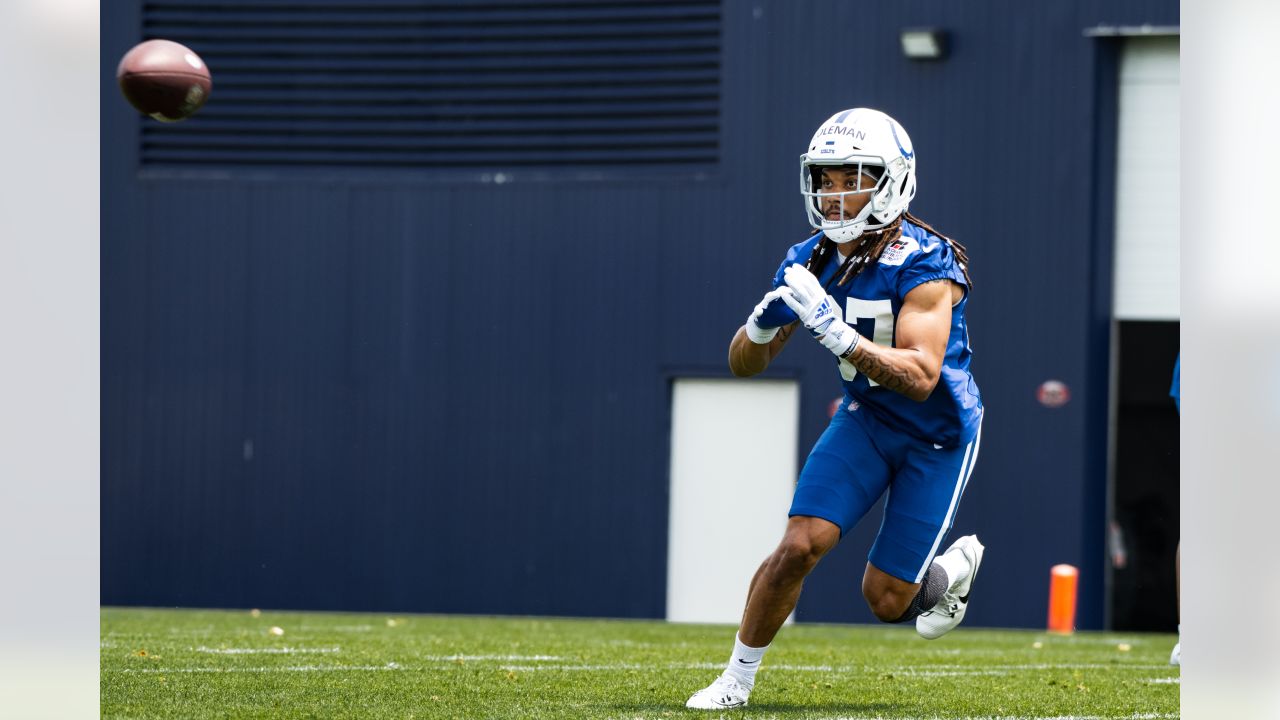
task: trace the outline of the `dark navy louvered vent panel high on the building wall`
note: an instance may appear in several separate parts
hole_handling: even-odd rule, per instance
[[[143,22],[214,73],[195,118],[142,123],[146,165],[718,160],[718,1],[170,0]]]

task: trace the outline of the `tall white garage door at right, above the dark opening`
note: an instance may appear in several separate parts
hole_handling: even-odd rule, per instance
[[[1178,132],[1178,37],[1126,40],[1116,150],[1120,320],[1179,319]],[[1212,200],[1212,192],[1202,200]]]

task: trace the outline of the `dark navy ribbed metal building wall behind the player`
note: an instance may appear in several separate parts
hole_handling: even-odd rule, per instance
[[[972,258],[988,411],[954,536],[987,543],[989,601],[969,621],[1041,625],[1071,562],[1101,626],[1115,41],[1084,29],[1178,24],[1178,4],[722,9],[718,167],[502,184],[143,168],[150,120],[113,77],[140,5],[105,10],[102,602],[663,616],[669,380],[728,375],[806,229],[796,158],[868,105],[915,142],[913,211]],[[901,56],[919,26],[950,31],[946,61]],[[805,343],[771,373],[801,379],[804,452],[837,375]],[[1046,378],[1073,401],[1039,406]],[[877,525],[819,566],[801,621],[873,620]]]

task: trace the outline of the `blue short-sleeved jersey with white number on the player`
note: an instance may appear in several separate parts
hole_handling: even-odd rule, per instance
[[[778,266],[773,287],[783,284],[783,269],[809,260],[820,237],[820,233],[815,234],[791,247],[786,260]],[[936,279],[951,279],[965,288],[964,297],[951,309],[951,334],[942,359],[942,375],[924,402],[879,387],[846,360],[838,363],[847,396],[844,405],[846,409],[847,401],[858,402],[883,424],[943,447],[955,447],[973,439],[982,420],[982,396],[969,374],[973,352],[969,350],[969,331],[964,318],[969,287],[951,246],[904,219],[901,238],[884,247],[879,261],[863,269],[845,287],[836,284],[838,265],[840,258],[832,256],[818,279],[836,300],[836,305],[844,309],[845,322],[882,347],[893,347],[897,314],[902,309],[902,299],[913,288]],[[796,319],[795,313],[777,300],[769,305],[760,325],[785,325]]]

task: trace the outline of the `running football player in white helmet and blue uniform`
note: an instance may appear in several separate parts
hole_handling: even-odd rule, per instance
[[[964,618],[983,546],[938,548],[978,459],[982,397],[969,374],[965,249],[908,211],[915,151],[893,118],[855,108],[800,156],[813,237],[730,343],[735,375],[763,372],[796,325],[832,352],[845,397],[800,471],[787,528],[751,579],[728,666],[687,707],[744,706],[800,587],[884,493],[863,596],[886,623],[938,638]]]

